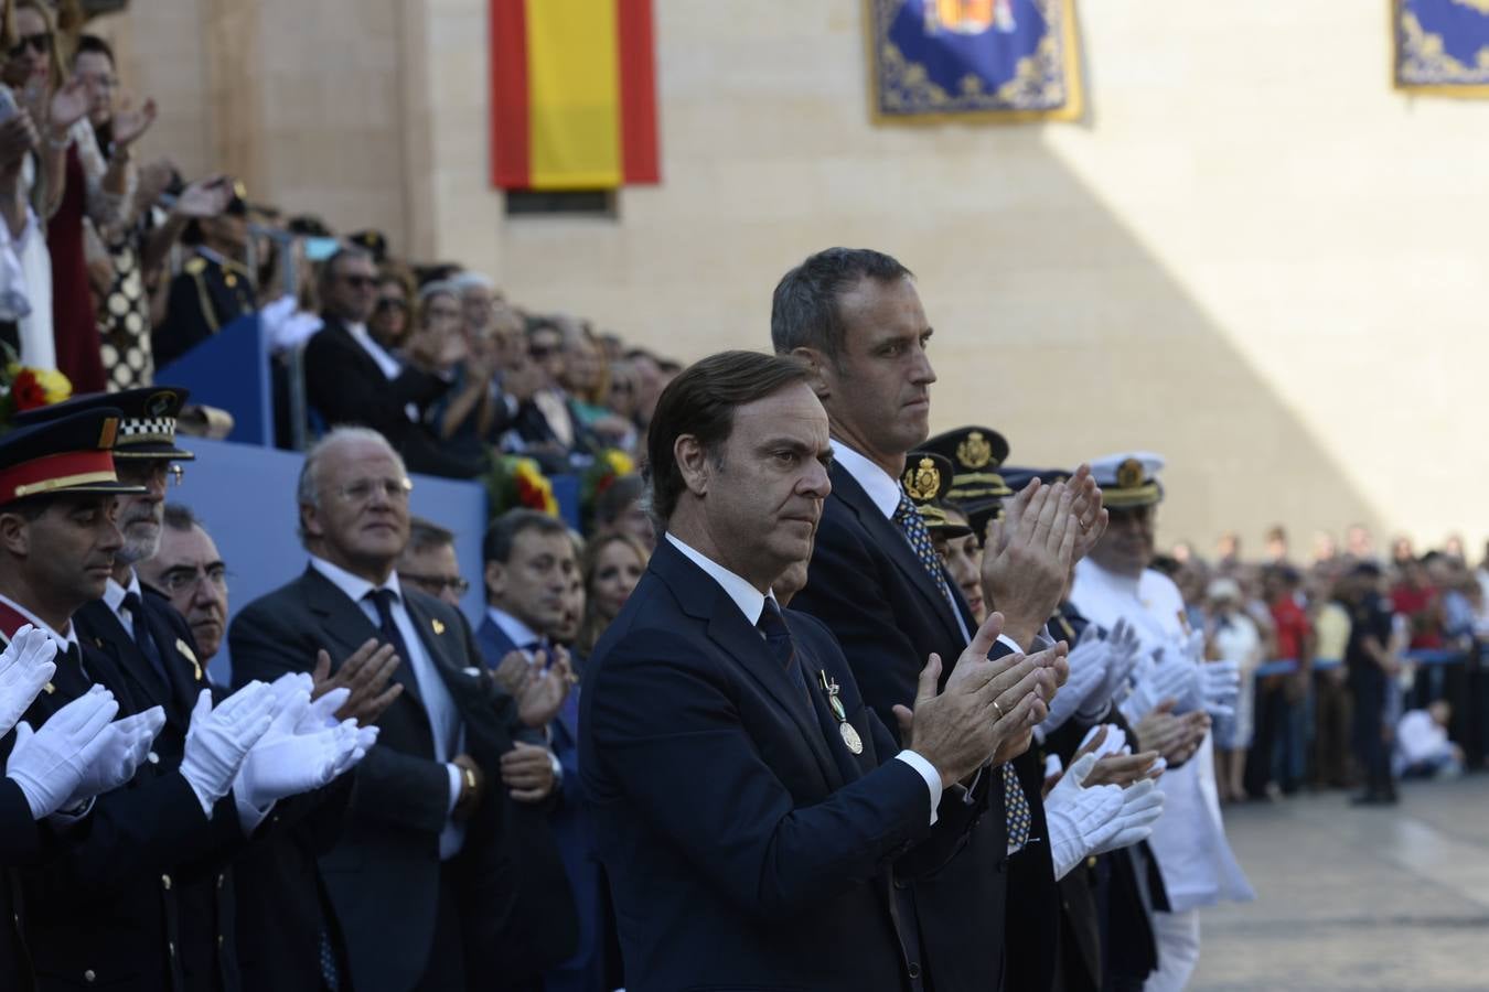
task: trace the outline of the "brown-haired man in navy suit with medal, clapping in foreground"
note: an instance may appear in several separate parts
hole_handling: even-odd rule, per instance
[[[667,534],[588,662],[579,714],[639,992],[926,988],[892,864],[925,842],[941,867],[986,794],[951,787],[1053,687],[1036,659],[995,677],[993,620],[944,693],[926,665],[899,750],[831,637],[780,611],[771,583],[812,555],[829,491],[807,382],[798,363],[724,352],[679,375],[651,425]]]

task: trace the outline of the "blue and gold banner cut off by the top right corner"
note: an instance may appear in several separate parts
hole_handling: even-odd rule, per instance
[[[1395,85],[1489,97],[1489,0],[1394,0]]]

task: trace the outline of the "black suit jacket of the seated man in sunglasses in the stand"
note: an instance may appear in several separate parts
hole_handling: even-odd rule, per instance
[[[423,416],[447,388],[450,384],[439,376],[412,366],[404,366],[390,381],[345,324],[329,314],[305,345],[305,397],[326,427],[371,427],[404,455],[409,471],[469,479],[476,466],[444,452],[424,425],[408,419],[404,410],[412,403]]]

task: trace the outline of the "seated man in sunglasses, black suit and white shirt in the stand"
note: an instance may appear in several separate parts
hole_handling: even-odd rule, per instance
[[[320,293],[325,326],[305,345],[305,396],[326,427],[359,424],[377,430],[414,471],[474,476],[478,466],[441,451],[423,425],[424,410],[450,382],[435,369],[390,354],[368,332],[377,305],[372,256],[345,248],[326,259]]]

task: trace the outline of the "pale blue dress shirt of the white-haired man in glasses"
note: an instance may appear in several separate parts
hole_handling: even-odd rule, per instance
[[[429,657],[429,651],[424,650],[424,642],[418,637],[418,629],[414,626],[412,617],[408,616],[408,607],[404,605],[404,590],[398,584],[398,573],[389,573],[387,582],[381,586],[374,586],[366,579],[353,576],[345,568],[332,565],[325,558],[317,558],[316,555],[310,556],[310,567],[344,592],[351,602],[357,604],[357,608],[366,614],[375,628],[381,628],[383,620],[378,617],[377,605],[368,593],[374,589],[390,589],[393,592],[393,623],[398,626],[398,632],[404,635],[404,644],[408,648],[408,657],[404,659],[404,663],[414,672],[414,681],[418,683],[418,696],[424,702],[424,712],[429,715],[429,727],[433,736],[435,760],[444,761],[450,772],[450,805],[445,814],[453,814],[456,802],[460,799],[463,776],[460,766],[450,763],[450,759],[454,757],[451,748],[456,748],[456,753],[465,748],[465,726],[460,723],[460,712],[456,709],[454,699],[450,698],[450,687],[445,686],[439,668]],[[463,843],[465,824],[457,824],[454,819],[445,822],[445,828],[439,834],[441,861],[448,861],[459,854]]]

